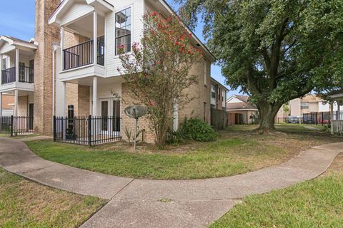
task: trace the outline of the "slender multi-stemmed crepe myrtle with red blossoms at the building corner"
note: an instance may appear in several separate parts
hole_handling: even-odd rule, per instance
[[[134,100],[148,107],[149,126],[156,135],[156,145],[163,147],[173,123],[174,108],[184,107],[193,97],[186,88],[198,82],[191,68],[202,59],[202,50],[194,48],[177,16],[164,18],[156,12],[144,14],[144,36],[133,43],[131,52],[120,47],[118,71]]]

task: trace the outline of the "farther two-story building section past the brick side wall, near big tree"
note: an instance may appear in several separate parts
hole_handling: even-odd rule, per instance
[[[211,108],[227,109],[227,92],[229,89],[211,77]]]

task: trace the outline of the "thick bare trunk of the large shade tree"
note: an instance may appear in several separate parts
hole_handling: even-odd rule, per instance
[[[282,105],[272,105],[268,103],[259,103],[259,130],[268,132],[275,130],[275,115]]]

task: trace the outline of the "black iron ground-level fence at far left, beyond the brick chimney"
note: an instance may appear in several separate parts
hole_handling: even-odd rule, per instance
[[[34,134],[33,116],[1,116],[0,133],[11,136]]]

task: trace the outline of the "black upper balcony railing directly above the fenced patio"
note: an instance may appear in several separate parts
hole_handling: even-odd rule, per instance
[[[69,70],[94,63],[93,40],[63,50],[63,70]],[[104,36],[97,40],[96,63],[104,66]]]

